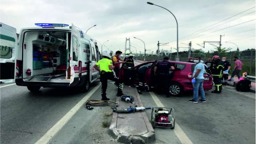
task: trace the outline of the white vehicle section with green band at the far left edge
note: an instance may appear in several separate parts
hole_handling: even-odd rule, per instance
[[[13,83],[18,37],[16,29],[0,22],[0,82]]]

